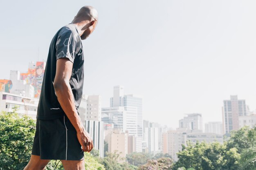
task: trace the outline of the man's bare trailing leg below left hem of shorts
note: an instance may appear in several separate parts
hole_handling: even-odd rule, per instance
[[[29,163],[24,170],[44,170],[49,161],[49,159],[40,159],[38,155],[31,155]]]

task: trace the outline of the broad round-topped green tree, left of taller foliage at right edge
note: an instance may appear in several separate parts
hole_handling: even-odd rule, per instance
[[[182,151],[177,154],[179,160],[173,169],[184,167],[195,170],[237,170],[240,154],[236,151],[236,148],[226,150],[226,146],[218,142],[187,142],[187,146],[183,146]]]

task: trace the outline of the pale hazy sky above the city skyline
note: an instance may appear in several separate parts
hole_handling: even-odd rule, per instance
[[[230,95],[256,109],[256,1],[0,2],[0,79],[47,59],[56,31],[84,5],[99,22],[83,41],[86,95],[108,107],[113,86],[143,97],[143,117],[172,128],[185,114],[222,121]]]

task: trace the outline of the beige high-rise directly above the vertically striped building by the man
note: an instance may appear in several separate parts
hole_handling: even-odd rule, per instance
[[[86,119],[101,121],[101,96],[100,95],[88,96]]]

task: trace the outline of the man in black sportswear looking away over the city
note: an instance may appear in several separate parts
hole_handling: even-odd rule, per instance
[[[93,142],[77,112],[84,77],[81,40],[94,31],[97,21],[93,7],[82,7],[52,39],[31,158],[24,170],[44,170],[52,159],[61,160],[65,170],[85,170],[83,152],[90,152]]]

